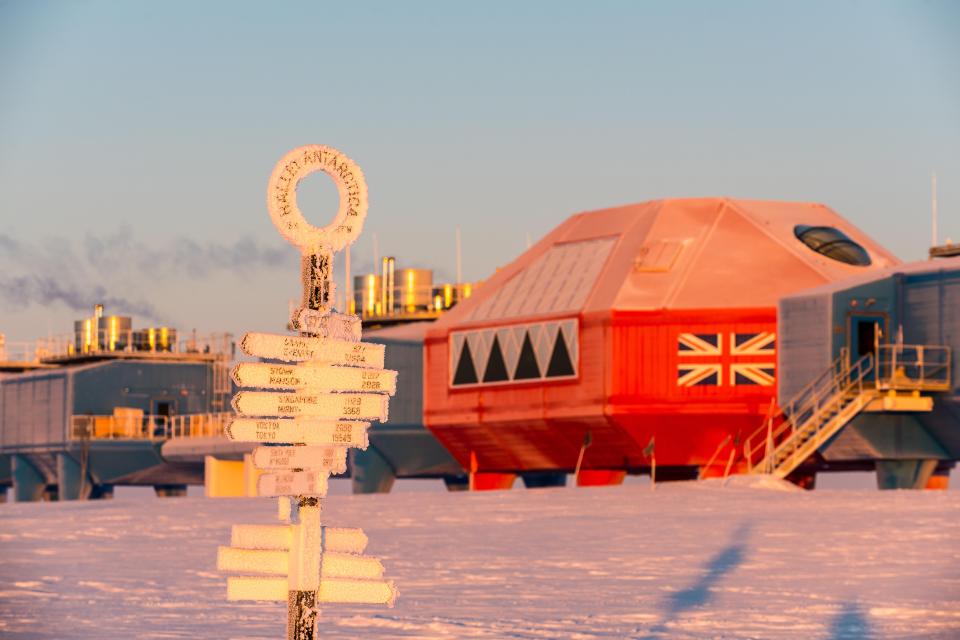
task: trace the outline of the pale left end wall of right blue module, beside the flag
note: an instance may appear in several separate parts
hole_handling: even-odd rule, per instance
[[[783,404],[833,362],[831,294],[780,300],[777,385]]]

